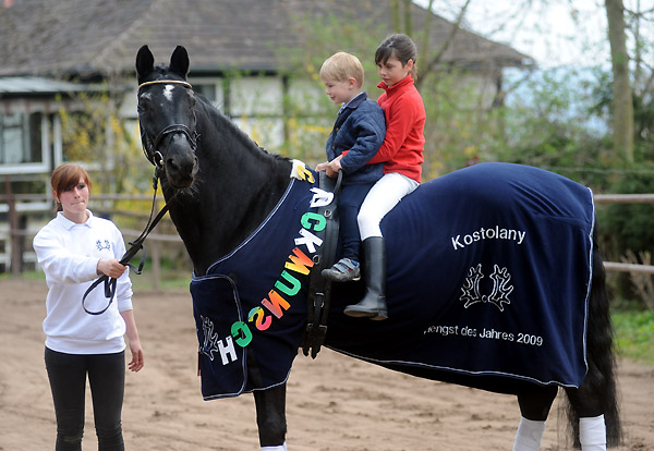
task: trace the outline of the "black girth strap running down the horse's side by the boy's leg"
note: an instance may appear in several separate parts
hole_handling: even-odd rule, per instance
[[[316,235],[323,240],[323,245],[319,247],[320,251],[313,257],[314,266],[311,270],[308,293],[306,296],[306,329],[304,331],[304,337],[302,338],[302,352],[306,356],[308,356],[311,352],[312,358],[316,358],[318,355],[327,334],[327,319],[331,301],[331,281],[323,277],[322,272],[323,269],[330,268],[336,261],[339,231],[337,206],[342,180],[341,172],[338,173],[338,179],[329,178],[325,172],[319,172],[318,174],[320,190],[334,193],[334,198],[330,204],[317,207],[317,214],[325,217],[326,224],[325,229],[316,233]]]

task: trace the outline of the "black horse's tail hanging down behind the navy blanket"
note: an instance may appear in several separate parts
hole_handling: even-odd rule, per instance
[[[595,228],[596,229],[596,228]],[[574,447],[579,448],[579,404],[571,397],[577,392],[586,401],[594,399],[591,410],[598,410],[604,414],[606,423],[606,441],[608,447],[616,447],[621,441],[622,428],[618,411],[616,385],[616,358],[613,348],[614,330],[610,320],[609,296],[606,288],[606,272],[596,241],[596,231],[593,232],[593,276],[591,280],[591,297],[589,300],[589,317],[586,331],[586,359],[589,371],[578,390],[567,390],[568,419],[572,431]],[[590,398],[591,397],[591,398]],[[583,415],[583,414],[582,414]],[[596,414],[595,414],[596,415]]]

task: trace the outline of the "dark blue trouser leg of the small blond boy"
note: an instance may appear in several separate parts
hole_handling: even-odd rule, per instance
[[[361,235],[356,216],[363,199],[375,183],[354,183],[341,187],[338,199],[338,214],[340,217],[339,236],[341,242],[341,256],[361,263]]]

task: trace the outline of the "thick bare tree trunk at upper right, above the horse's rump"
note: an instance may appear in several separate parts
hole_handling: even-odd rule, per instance
[[[613,64],[613,124],[614,150],[625,161],[633,162],[633,100],[629,81],[629,53],[625,32],[625,5],[622,0],[605,0],[608,19],[608,41]]]

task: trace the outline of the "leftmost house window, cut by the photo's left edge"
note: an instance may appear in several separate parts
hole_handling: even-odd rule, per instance
[[[41,117],[40,112],[0,114],[0,163],[43,161]]]

